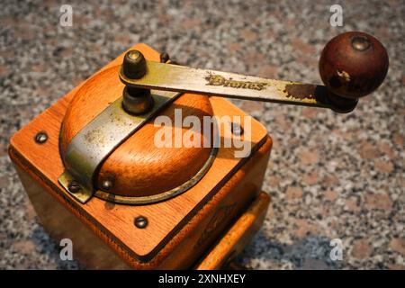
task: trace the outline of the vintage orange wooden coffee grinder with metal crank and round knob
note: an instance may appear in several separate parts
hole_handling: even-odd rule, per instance
[[[15,133],[9,154],[43,226],[70,238],[85,266],[221,268],[265,218],[272,147],[265,127],[223,97],[351,112],[387,70],[383,45],[363,32],[323,49],[325,86],[183,67],[139,44]],[[187,132],[178,111],[227,121],[195,132],[201,145],[157,147],[157,133]],[[161,116],[174,127],[156,125]],[[221,145],[232,139],[248,153]]]

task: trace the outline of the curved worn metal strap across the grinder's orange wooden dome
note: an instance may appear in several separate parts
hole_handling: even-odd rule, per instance
[[[67,145],[66,155],[63,156],[65,172],[58,177],[58,182],[77,201],[87,202],[94,194],[94,175],[103,161],[178,95],[178,92],[152,90],[153,108],[141,115],[125,112],[122,97],[115,100],[85,125]],[[78,185],[76,191],[69,189],[72,181]]]

